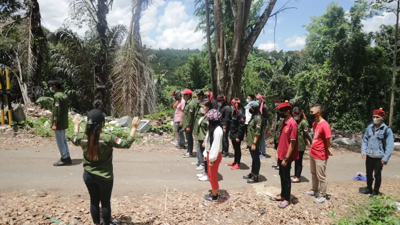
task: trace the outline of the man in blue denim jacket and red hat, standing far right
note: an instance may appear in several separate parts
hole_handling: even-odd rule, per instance
[[[365,159],[366,169],[366,188],[361,193],[370,194],[369,197],[379,194],[383,165],[387,164],[394,149],[393,132],[383,122],[385,115],[382,108],[373,111],[373,123],[366,128],[361,144],[361,157]],[[372,189],[373,173],[375,185]]]

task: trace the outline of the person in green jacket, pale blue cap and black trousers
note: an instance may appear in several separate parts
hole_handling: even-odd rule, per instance
[[[251,172],[244,175],[247,183],[257,183],[261,162],[259,160],[259,146],[261,144],[262,116],[259,114],[259,104],[256,101],[250,101],[244,108],[249,109],[251,119],[247,125],[247,148],[251,155]]]

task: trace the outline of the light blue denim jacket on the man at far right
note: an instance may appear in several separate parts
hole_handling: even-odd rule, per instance
[[[361,153],[369,156],[382,157],[382,161],[387,162],[394,148],[393,132],[390,128],[386,129],[386,148],[383,150],[384,130],[387,126],[382,123],[375,131],[375,124],[368,125],[364,133],[361,144]],[[372,130],[373,129],[373,130]]]

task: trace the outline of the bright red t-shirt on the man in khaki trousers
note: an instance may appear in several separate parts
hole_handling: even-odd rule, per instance
[[[323,120],[319,123],[312,123],[312,132],[314,133],[314,138],[312,139],[309,154],[316,159],[328,159],[329,149],[327,148],[326,138],[332,137],[328,122]]]

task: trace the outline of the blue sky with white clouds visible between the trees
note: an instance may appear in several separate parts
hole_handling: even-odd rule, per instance
[[[38,0],[42,22],[45,27],[55,30],[68,17],[68,0]],[[286,0],[277,0],[275,10]],[[303,24],[310,22],[310,16],[321,15],[331,0],[291,0],[287,6],[297,7],[278,14],[275,43],[273,43],[274,19],[270,18],[263,32],[259,35],[255,46],[264,50],[294,50],[300,49],[305,43],[305,28]],[[335,1],[344,10],[349,10],[353,0]],[[124,23],[129,25],[130,0],[114,0],[113,8],[108,15],[108,23]],[[265,8],[266,3],[262,10]],[[153,4],[142,13],[140,20],[143,43],[154,48],[201,48],[205,40],[204,34],[194,32],[198,19],[193,15],[194,0],[153,0]],[[363,21],[366,31],[378,30],[380,24],[394,24],[394,13],[384,13]],[[83,35],[88,28],[72,27]],[[275,47],[275,48],[274,48]]]

